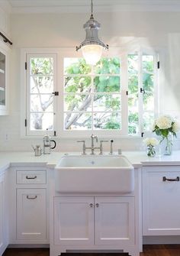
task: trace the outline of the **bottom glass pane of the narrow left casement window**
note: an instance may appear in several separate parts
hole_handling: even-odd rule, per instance
[[[53,130],[53,113],[31,113],[31,130]]]

